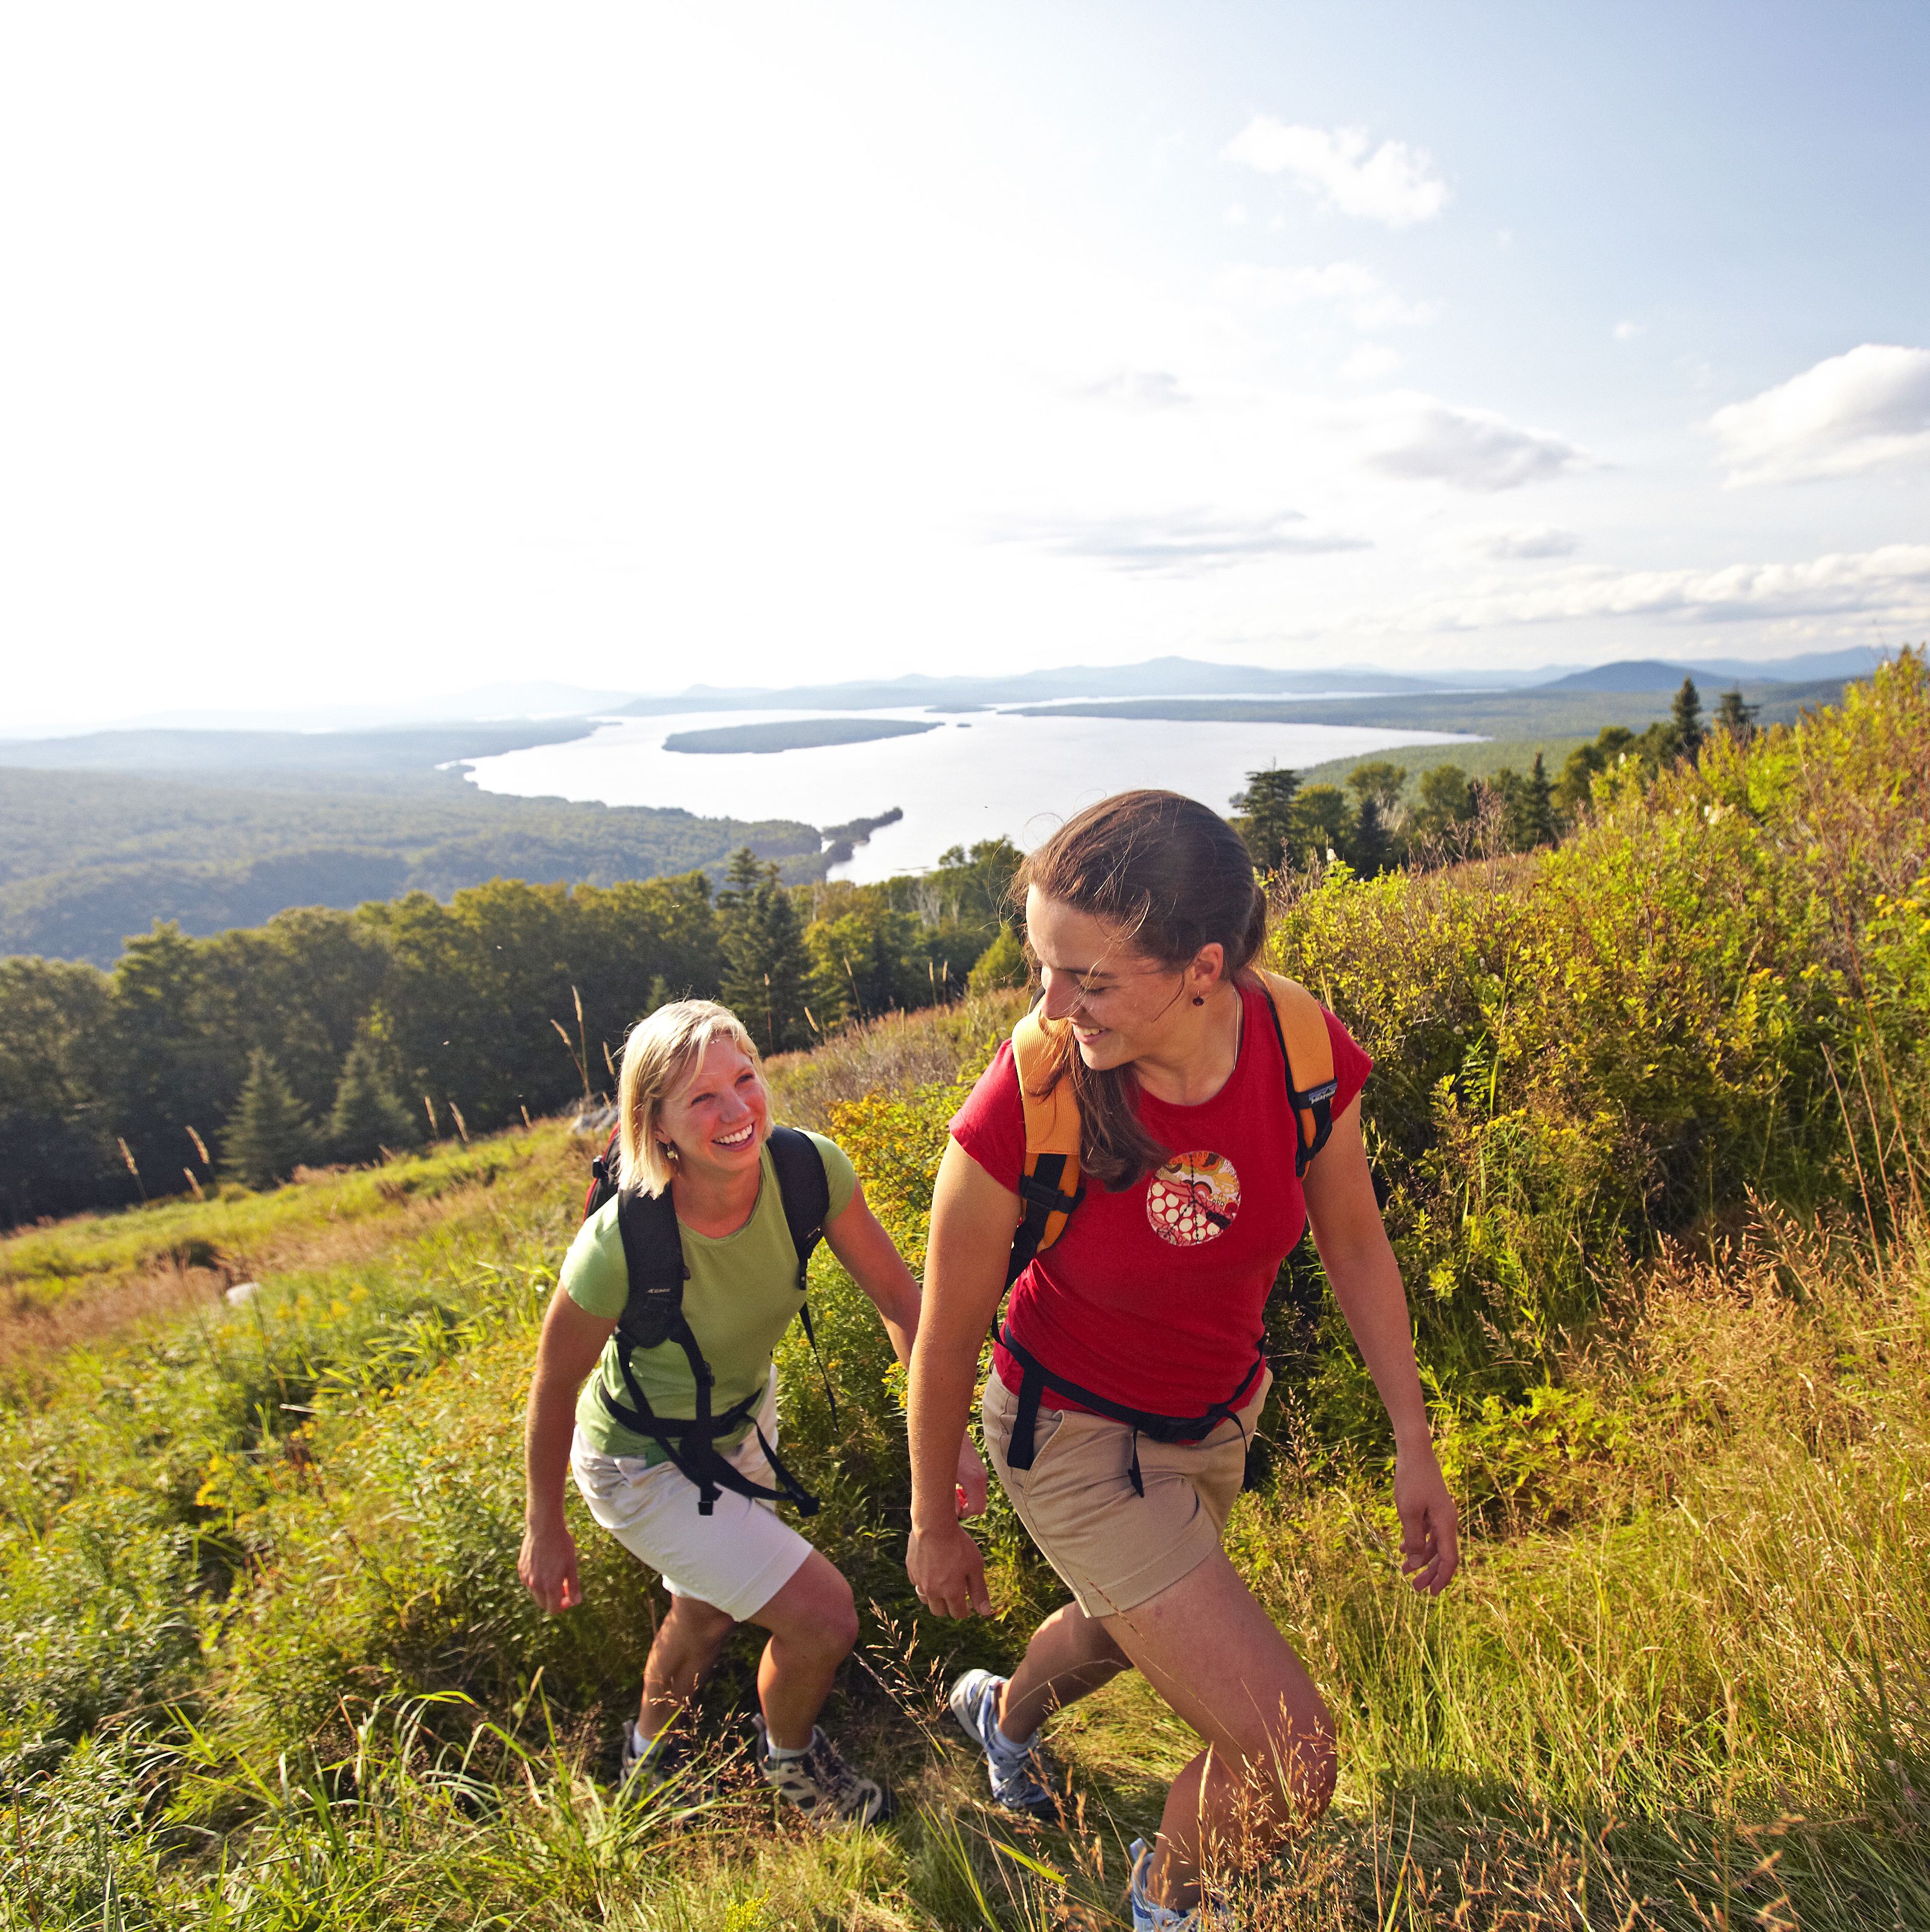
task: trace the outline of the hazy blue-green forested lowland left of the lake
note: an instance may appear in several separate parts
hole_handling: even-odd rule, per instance
[[[128,933],[259,925],[288,906],[448,898],[487,879],[614,885],[748,846],[821,879],[817,829],[481,792],[466,761],[587,719],[365,732],[122,730],[0,744],[0,952],[110,966]]]

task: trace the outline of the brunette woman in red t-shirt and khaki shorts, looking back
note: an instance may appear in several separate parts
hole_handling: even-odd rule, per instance
[[[1045,1716],[1144,1671],[1206,1748],[1169,1791],[1153,1845],[1134,1845],[1132,1913],[1138,1928],[1186,1926],[1209,1917],[1204,1857],[1248,1862],[1333,1793],[1333,1719],[1221,1549],[1271,1381],[1262,1310],[1308,1221],[1393,1422],[1416,1590],[1439,1592],[1455,1573],[1455,1505],[1360,1140],[1370,1061],[1321,1012],[1331,1132],[1298,1179],[1291,1068],[1254,970],[1265,900],[1240,837],[1190,798],[1124,792],[1064,825],[1018,883],[1047,1036],[1034,1092],[1070,1082],[1086,1192],[1012,1285],[983,1422],[999,1480],[1072,1602],[1039,1625],[1010,1679],[970,1671],[951,1706],[985,1752],[993,1797],[1051,1810]],[[906,1571],[933,1611],[962,1617],[991,1611],[952,1488],[1022,1217],[1010,1045],[951,1134],[912,1352]],[[1161,1439],[1188,1418],[1194,1439]]]

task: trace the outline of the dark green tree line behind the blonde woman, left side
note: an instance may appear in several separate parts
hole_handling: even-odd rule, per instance
[[[0,960],[0,1219],[269,1186],[429,1138],[601,1101],[628,1028],[728,1001],[767,1053],[1022,980],[1001,925],[1018,852],[918,879],[786,887],[748,848],[612,887],[495,879],[189,939],[156,923],[110,972]]]

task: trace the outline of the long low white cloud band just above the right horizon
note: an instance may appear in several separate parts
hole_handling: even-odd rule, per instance
[[[1683,618],[1700,624],[1874,614],[1930,616],[1930,545],[1831,553],[1802,564],[1729,564],[1721,570],[1547,572],[1528,583],[1478,585],[1408,612],[1412,630],[1480,630],[1578,618]]]

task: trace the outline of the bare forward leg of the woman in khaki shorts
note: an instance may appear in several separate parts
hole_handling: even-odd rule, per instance
[[[1167,1793],[1146,1882],[1157,1903],[1184,1911],[1200,1897],[1206,1851],[1258,1857],[1327,1808],[1333,1719],[1225,1551],[1105,1625],[1207,1745]]]

